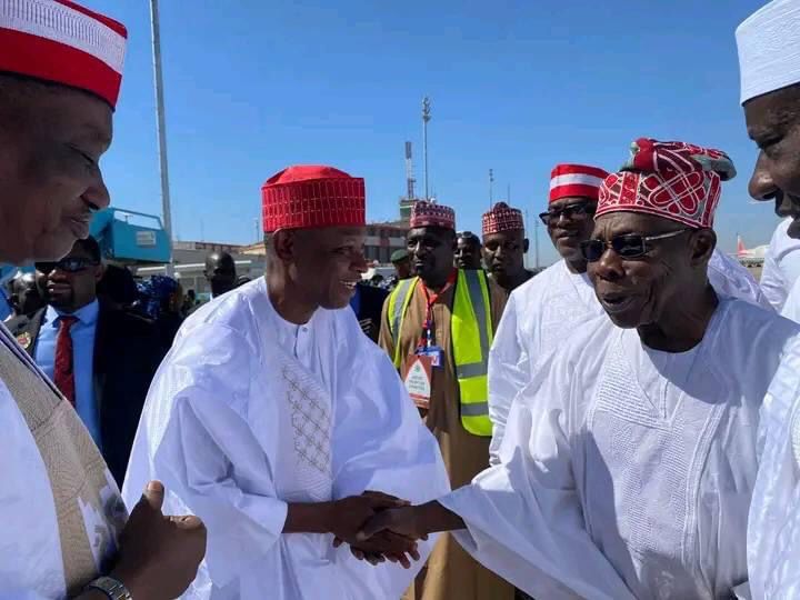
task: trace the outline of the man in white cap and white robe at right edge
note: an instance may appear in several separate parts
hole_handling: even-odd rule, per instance
[[[800,240],[800,1],[766,4],[737,29],[741,102],[759,148],[750,194],[772,200]],[[777,40],[780,40],[777,42]],[[783,308],[800,317],[794,283]],[[800,598],[800,347],[784,358],[764,399],[762,452],[748,529],[752,597]]]

